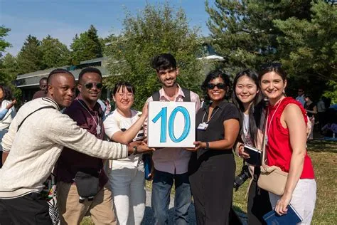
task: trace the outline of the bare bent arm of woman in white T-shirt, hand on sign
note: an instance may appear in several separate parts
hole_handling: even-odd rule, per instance
[[[134,122],[134,124],[131,127],[129,127],[129,129],[125,130],[124,132],[122,130],[114,132],[114,134],[110,137],[110,139],[113,140],[114,142],[119,142],[125,145],[127,145],[129,142],[132,142],[132,140],[134,139],[134,137],[136,137],[139,130],[141,130],[141,127],[143,126],[144,121],[147,118],[148,103],[145,103],[142,112],[143,113],[141,114],[139,119],[136,122]]]

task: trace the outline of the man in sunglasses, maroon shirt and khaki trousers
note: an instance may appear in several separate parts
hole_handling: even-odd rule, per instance
[[[99,139],[104,137],[102,117],[104,112],[97,103],[102,92],[102,73],[97,68],[85,68],[78,76],[77,89],[80,91],[73,103],[65,109],[77,125]],[[83,197],[83,184],[76,182],[77,174],[98,177],[99,189],[94,196]],[[114,224],[112,192],[105,187],[107,176],[103,169],[103,159],[64,148],[55,166],[58,178],[58,210],[61,224],[80,224],[86,214],[90,214],[95,224]],[[97,181],[97,179],[96,179]],[[87,186],[87,185],[84,185]]]

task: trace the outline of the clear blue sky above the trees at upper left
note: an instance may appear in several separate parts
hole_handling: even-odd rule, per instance
[[[98,35],[105,38],[122,31],[124,9],[132,14],[149,4],[162,4],[163,0],[0,0],[0,25],[11,28],[6,41],[11,48],[6,52],[16,56],[26,37],[31,34],[39,40],[52,36],[68,47],[75,34],[80,34],[93,24]],[[200,35],[208,36],[208,14],[205,0],[168,0],[175,9],[186,12],[191,27],[200,27]],[[212,0],[210,0],[212,2]]]

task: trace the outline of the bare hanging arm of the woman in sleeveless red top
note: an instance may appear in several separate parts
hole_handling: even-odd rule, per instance
[[[282,198],[277,202],[275,211],[278,214],[287,212],[287,206],[303,171],[304,157],[306,155],[306,124],[303,114],[295,104],[289,104],[281,116],[282,126],[289,130],[292,155],[286,187]]]

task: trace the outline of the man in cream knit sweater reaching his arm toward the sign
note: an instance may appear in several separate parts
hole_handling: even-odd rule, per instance
[[[48,77],[46,98],[23,105],[11,122],[2,140],[6,162],[0,169],[0,224],[51,224],[48,204],[40,193],[63,147],[102,159],[149,151],[139,142],[127,146],[99,140],[78,127],[60,112],[74,95],[73,74],[55,69]]]

